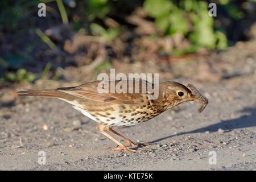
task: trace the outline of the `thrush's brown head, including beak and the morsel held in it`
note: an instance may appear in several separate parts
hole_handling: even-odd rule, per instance
[[[186,101],[200,102],[201,106],[198,111],[201,113],[208,104],[208,99],[192,84],[185,86],[175,81],[168,81],[162,83],[162,89],[164,100],[172,106],[179,105]]]

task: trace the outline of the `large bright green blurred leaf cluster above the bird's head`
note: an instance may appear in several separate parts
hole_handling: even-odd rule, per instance
[[[179,5],[179,6],[178,6]],[[214,32],[213,18],[208,15],[208,3],[183,0],[173,3],[168,0],[146,0],[143,5],[148,15],[155,18],[156,26],[164,35],[182,32],[195,46],[225,49],[227,40],[222,32]],[[189,31],[189,23],[192,23]],[[203,39],[202,39],[203,38]]]

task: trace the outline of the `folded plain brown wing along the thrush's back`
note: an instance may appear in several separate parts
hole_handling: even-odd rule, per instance
[[[56,90],[59,90],[60,92],[65,92],[68,94],[71,94],[76,97],[85,98],[87,100],[94,100],[94,101],[101,101],[101,102],[110,102],[113,104],[140,104],[143,101],[143,94],[142,90],[144,91],[145,88],[147,88],[148,84],[151,84],[150,82],[141,80],[141,79],[133,79],[133,86],[129,86],[129,81],[126,81],[126,90],[125,93],[117,93],[116,90],[114,90],[114,93],[110,92],[110,86],[113,87],[112,84],[115,84],[114,88],[117,88],[117,84],[119,84],[118,88],[121,88],[121,91],[123,90],[121,85],[121,80],[115,80],[115,81],[94,81],[89,82],[86,84],[82,84],[80,86],[75,87],[68,87],[68,88],[57,88]],[[125,81],[125,80],[124,80]],[[122,82],[125,83],[125,82]],[[100,85],[99,85],[100,84]],[[135,84],[139,85],[139,93],[129,93],[129,90],[133,89],[135,87]],[[101,89],[105,89],[105,86],[109,86],[108,92],[101,93],[98,90],[98,87],[100,86]],[[125,86],[125,85],[123,85]],[[152,84],[150,85],[152,86]],[[124,87],[125,88],[125,87]]]

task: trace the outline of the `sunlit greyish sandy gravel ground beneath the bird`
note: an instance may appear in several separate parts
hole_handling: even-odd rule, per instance
[[[255,170],[255,75],[218,83],[177,81],[195,84],[209,105],[198,114],[199,105],[188,102],[140,125],[118,128],[135,142],[152,142],[138,154],[109,150],[116,145],[98,133],[97,123],[64,101],[23,97],[22,104],[3,105],[0,169]],[[38,163],[39,151],[46,152],[45,165]],[[209,164],[210,151],[216,152],[216,164]]]

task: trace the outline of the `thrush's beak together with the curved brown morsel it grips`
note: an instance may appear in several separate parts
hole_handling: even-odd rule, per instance
[[[191,90],[191,95],[188,98],[188,100],[190,101],[194,101],[194,102],[200,102],[201,106],[199,107],[199,109],[197,110],[199,113],[201,113],[201,111],[203,111],[205,109],[205,107],[208,105],[208,99],[203,96],[199,90],[196,89],[196,87],[192,84],[188,84],[187,87],[189,88],[189,90]]]

